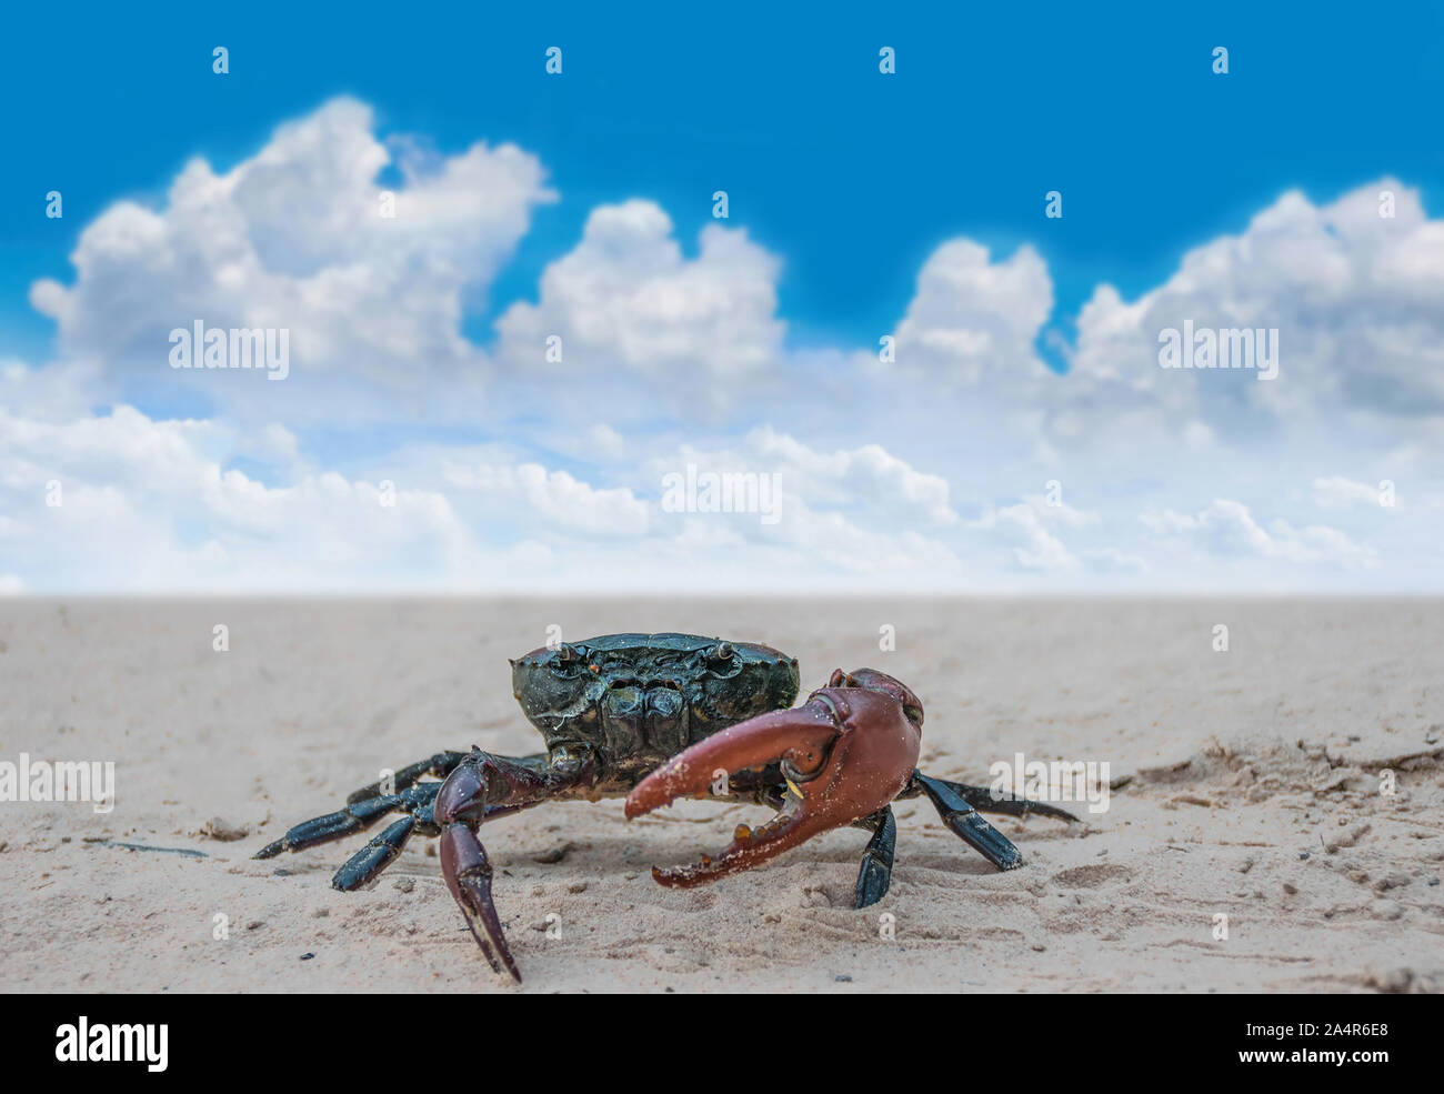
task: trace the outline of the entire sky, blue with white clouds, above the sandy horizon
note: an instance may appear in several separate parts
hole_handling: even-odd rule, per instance
[[[1444,590],[1438,6],[176,4],[0,51],[0,592]],[[290,378],[169,369],[195,319]],[[1279,329],[1279,380],[1161,371],[1183,320]],[[693,465],[790,515],[670,512]]]

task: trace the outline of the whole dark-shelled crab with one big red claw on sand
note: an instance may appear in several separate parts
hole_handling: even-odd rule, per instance
[[[832,828],[871,831],[855,908],[888,892],[894,801],[927,797],[943,823],[999,870],[1021,866],[1022,856],[980,810],[1077,821],[1054,805],[920,772],[923,703],[875,668],[836,670],[793,707],[797,660],[754,642],[617,634],[544,647],[510,664],[517,701],[546,752],[438,752],[362,787],[344,808],[295,826],[256,857],[339,840],[400,813],[351,856],[332,886],[374,883],[410,836],[439,836],[442,876],[477,944],[494,971],[504,966],[520,983],[477,830],[544,801],[625,797],[628,818],[689,795],[775,810],[757,828],[736,826],[718,854],[653,869],[658,883],[679,888],[749,869]]]

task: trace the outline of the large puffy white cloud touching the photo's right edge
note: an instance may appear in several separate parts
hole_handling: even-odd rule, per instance
[[[1380,211],[1392,215],[1380,215]],[[1444,414],[1444,222],[1395,179],[1314,205],[1291,191],[1238,235],[1184,255],[1164,284],[1125,302],[1099,286],[1079,315],[1056,416],[1152,416],[1239,433],[1321,413]],[[1158,336],[1197,328],[1278,331],[1279,375],[1175,371]]]

